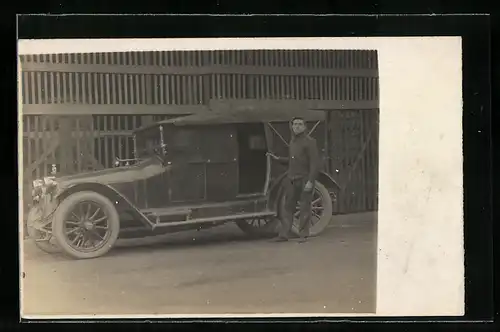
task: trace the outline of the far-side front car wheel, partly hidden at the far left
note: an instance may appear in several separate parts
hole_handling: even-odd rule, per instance
[[[35,245],[42,251],[49,254],[55,254],[61,251],[56,239],[52,236],[52,229],[50,223],[45,226],[42,225],[43,212],[38,207],[32,207],[28,212],[27,217],[27,232],[29,238]]]

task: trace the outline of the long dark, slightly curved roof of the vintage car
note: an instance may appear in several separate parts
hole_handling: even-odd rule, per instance
[[[206,126],[237,123],[288,122],[294,117],[303,117],[306,121],[322,121],[325,119],[325,114],[321,111],[297,109],[258,110],[246,108],[224,111],[206,111],[204,113],[158,121],[140,128],[137,131],[162,124],[174,126]]]

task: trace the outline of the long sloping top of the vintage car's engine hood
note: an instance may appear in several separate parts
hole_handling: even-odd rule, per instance
[[[127,183],[145,180],[162,173],[165,167],[156,159],[148,159],[133,166],[109,168],[99,171],[79,173],[56,177],[56,182],[61,189],[80,183]]]

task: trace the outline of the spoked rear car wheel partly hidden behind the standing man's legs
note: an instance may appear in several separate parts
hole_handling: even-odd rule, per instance
[[[280,215],[285,214],[285,195],[281,197]],[[321,234],[332,220],[333,204],[328,189],[319,181],[316,181],[314,193],[311,201],[312,216],[311,227],[309,229],[310,236]],[[299,203],[295,208],[292,233],[299,234]]]

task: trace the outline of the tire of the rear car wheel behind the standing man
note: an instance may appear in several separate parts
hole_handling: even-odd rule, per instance
[[[317,199],[320,199],[319,204],[317,207],[322,208],[322,212],[319,215],[319,218],[316,218],[316,222],[314,222],[311,225],[311,228],[309,230],[309,236],[317,236],[321,234],[330,224],[332,220],[332,213],[333,213],[333,203],[330,197],[330,193],[328,192],[328,189],[323,185],[321,182],[316,181],[315,186],[314,186],[314,196],[313,196],[313,202]],[[313,212],[314,212],[314,207],[313,207]],[[285,195],[283,194],[281,196],[281,201],[280,201],[280,216],[283,216],[285,214]],[[313,219],[314,219],[313,215]],[[292,226],[292,233],[295,236],[299,235],[299,229],[298,229],[298,219],[294,218],[293,226]]]

